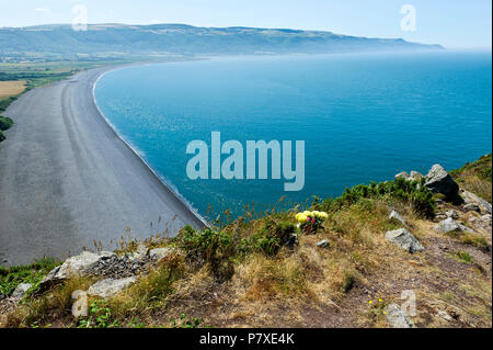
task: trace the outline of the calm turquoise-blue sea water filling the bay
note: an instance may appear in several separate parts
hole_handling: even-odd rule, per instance
[[[491,151],[491,53],[220,58],[119,69],[95,88],[121,135],[200,214],[337,196]],[[305,140],[306,185],[190,180],[193,139]]]

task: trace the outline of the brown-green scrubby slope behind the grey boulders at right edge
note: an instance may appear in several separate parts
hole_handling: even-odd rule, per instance
[[[492,155],[480,157],[473,162],[467,162],[462,168],[450,171],[451,177],[465,190],[492,203]]]

